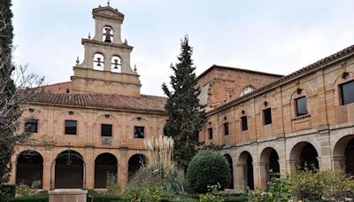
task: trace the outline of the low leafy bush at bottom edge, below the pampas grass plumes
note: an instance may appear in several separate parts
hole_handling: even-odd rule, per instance
[[[135,186],[128,186],[123,191],[121,198],[124,201],[152,202],[158,201],[162,188],[154,183],[145,183]]]

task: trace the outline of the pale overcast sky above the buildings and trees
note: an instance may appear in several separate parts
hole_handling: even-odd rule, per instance
[[[81,38],[94,35],[92,9],[105,0],[12,0],[17,65],[67,82]],[[134,46],[142,93],[163,95],[188,34],[196,74],[213,64],[290,74],[354,44],[352,0],[111,0],[125,14],[122,39]]]

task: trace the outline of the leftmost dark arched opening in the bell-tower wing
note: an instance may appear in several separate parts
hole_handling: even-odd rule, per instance
[[[43,158],[38,151],[21,151],[16,159],[16,184],[31,187],[35,181],[43,183]]]

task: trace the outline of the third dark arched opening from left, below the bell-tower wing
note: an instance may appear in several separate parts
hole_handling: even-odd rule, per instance
[[[118,159],[112,153],[104,152],[95,159],[95,189],[105,188],[109,174],[118,177]]]

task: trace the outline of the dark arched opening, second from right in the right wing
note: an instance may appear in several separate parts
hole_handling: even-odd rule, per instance
[[[297,143],[292,147],[289,155],[291,173],[298,169],[319,169],[318,158],[319,152],[313,144],[305,141]]]

